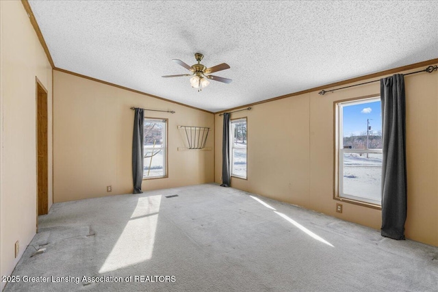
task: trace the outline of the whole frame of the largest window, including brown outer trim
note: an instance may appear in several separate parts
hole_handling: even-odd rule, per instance
[[[377,200],[372,200],[368,198],[363,198],[360,196],[342,194],[342,187],[344,186],[344,153],[354,152],[354,153],[382,153],[382,149],[349,149],[343,146],[343,125],[342,125],[342,111],[341,106],[350,104],[361,104],[370,103],[373,100],[377,101],[380,99],[379,94],[373,94],[369,96],[361,96],[357,98],[348,98],[333,102],[333,200],[339,200],[343,202],[349,202],[351,204],[357,204],[363,207],[369,207],[372,209],[381,210],[381,202]],[[383,127],[382,127],[383,131]]]

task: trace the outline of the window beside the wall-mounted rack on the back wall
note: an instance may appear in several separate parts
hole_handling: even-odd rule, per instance
[[[144,118],[143,179],[167,177],[167,120]]]

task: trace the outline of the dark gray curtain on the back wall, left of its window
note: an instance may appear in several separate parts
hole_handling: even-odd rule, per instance
[[[142,194],[143,181],[143,136],[144,110],[136,109],[134,115],[134,131],[132,135],[132,179],[134,190],[132,194]]]

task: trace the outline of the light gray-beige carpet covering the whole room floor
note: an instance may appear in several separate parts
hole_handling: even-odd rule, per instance
[[[39,222],[5,291],[438,291],[438,248],[214,184],[53,204]]]

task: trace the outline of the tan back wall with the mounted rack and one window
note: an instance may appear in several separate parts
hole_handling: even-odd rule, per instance
[[[184,146],[179,125],[210,127],[206,146],[213,148],[213,114],[57,70],[53,80],[55,202],[132,193],[133,106],[176,111],[145,111],[168,118],[168,178],[144,180],[143,190],[214,181],[214,150],[177,150]]]

